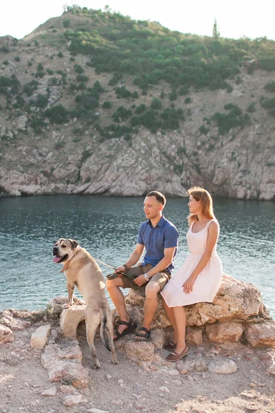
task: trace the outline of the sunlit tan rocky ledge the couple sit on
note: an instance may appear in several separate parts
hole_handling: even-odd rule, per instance
[[[0,314],[0,344],[9,346],[17,339],[18,331],[25,331],[25,335],[30,331],[29,350],[24,351],[34,351],[36,356],[40,354],[41,365],[54,385],[41,395],[55,396],[58,385],[58,391],[66,393],[62,396],[63,405],[69,407],[87,403],[83,391],[94,383],[94,374],[83,363],[83,344],[79,339],[82,334],[85,341],[85,303],[76,299],[74,306],[63,309],[66,301],[66,297],[56,297],[43,312],[4,310]],[[126,297],[127,310],[140,324],[143,304],[144,293],[130,290]],[[116,342],[120,363],[122,359],[125,362],[128,359],[128,363],[135,363],[144,372],[177,376],[173,379],[175,383],[180,381],[182,374],[188,374],[189,380],[192,380],[190,373],[202,374],[202,378],[208,374],[234,374],[241,366],[241,360],[253,361],[255,358],[261,360],[261,368],[268,376],[275,375],[275,323],[256,286],[224,275],[214,302],[187,306],[186,313],[190,348],[186,360],[172,363],[172,366],[165,360],[162,348],[170,339],[171,328],[159,299],[152,324],[152,340],[140,343],[133,341],[133,335],[122,337]],[[115,310],[113,321],[114,324],[118,321]],[[109,375],[107,380],[110,379]],[[162,394],[169,392],[166,385],[161,387]]]

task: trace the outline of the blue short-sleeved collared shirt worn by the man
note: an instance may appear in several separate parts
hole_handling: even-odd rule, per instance
[[[173,262],[177,254],[177,244],[179,233],[172,224],[162,216],[155,227],[152,226],[151,220],[147,220],[140,225],[137,235],[137,244],[145,246],[146,253],[142,265],[151,264],[156,266],[164,257],[164,248],[175,248]],[[166,268],[169,274],[174,269],[173,262]]]

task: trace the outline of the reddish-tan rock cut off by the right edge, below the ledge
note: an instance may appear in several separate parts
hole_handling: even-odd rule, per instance
[[[275,324],[270,321],[263,324],[251,324],[245,330],[245,339],[248,340],[250,346],[275,347]]]

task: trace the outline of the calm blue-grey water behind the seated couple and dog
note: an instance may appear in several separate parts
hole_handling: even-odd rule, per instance
[[[52,262],[59,237],[78,240],[98,260],[125,262],[144,220],[143,198],[58,195],[0,198],[0,310],[45,308],[56,295],[67,295],[61,265]],[[187,199],[170,198],[165,217],[179,229],[175,268],[188,249]],[[275,317],[275,203],[214,199],[221,224],[218,253],[225,273],[253,282]],[[107,267],[101,266],[104,275]]]

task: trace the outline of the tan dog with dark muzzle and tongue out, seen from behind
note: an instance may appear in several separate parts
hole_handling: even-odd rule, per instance
[[[100,337],[104,346],[111,351],[111,361],[117,364],[115,348],[113,346],[113,321],[107,297],[104,293],[105,282],[102,272],[93,257],[81,248],[77,241],[60,238],[52,250],[54,262],[63,264],[61,273],[67,278],[68,304],[74,304],[74,286],[78,288],[86,302],[85,322],[87,342],[94,361],[93,368],[100,368],[96,355],[94,337],[100,325]]]

